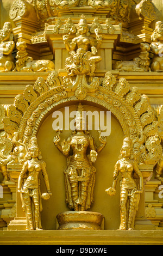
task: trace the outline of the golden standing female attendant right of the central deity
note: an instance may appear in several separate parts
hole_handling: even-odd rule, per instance
[[[137,166],[137,162],[132,155],[133,143],[130,138],[125,138],[121,149],[120,160],[117,161],[114,170],[114,182],[112,187],[108,188],[106,192],[109,196],[114,196],[116,193],[116,184],[118,180],[118,174],[122,175],[121,182],[121,199],[120,199],[120,211],[121,211],[121,224],[120,229],[131,230],[134,229],[135,215],[139,204],[140,193],[143,191],[143,176]],[[133,178],[134,172],[140,179],[140,188],[138,188],[135,179]],[[129,201],[129,208],[127,203]],[[127,210],[128,209],[128,210]]]

